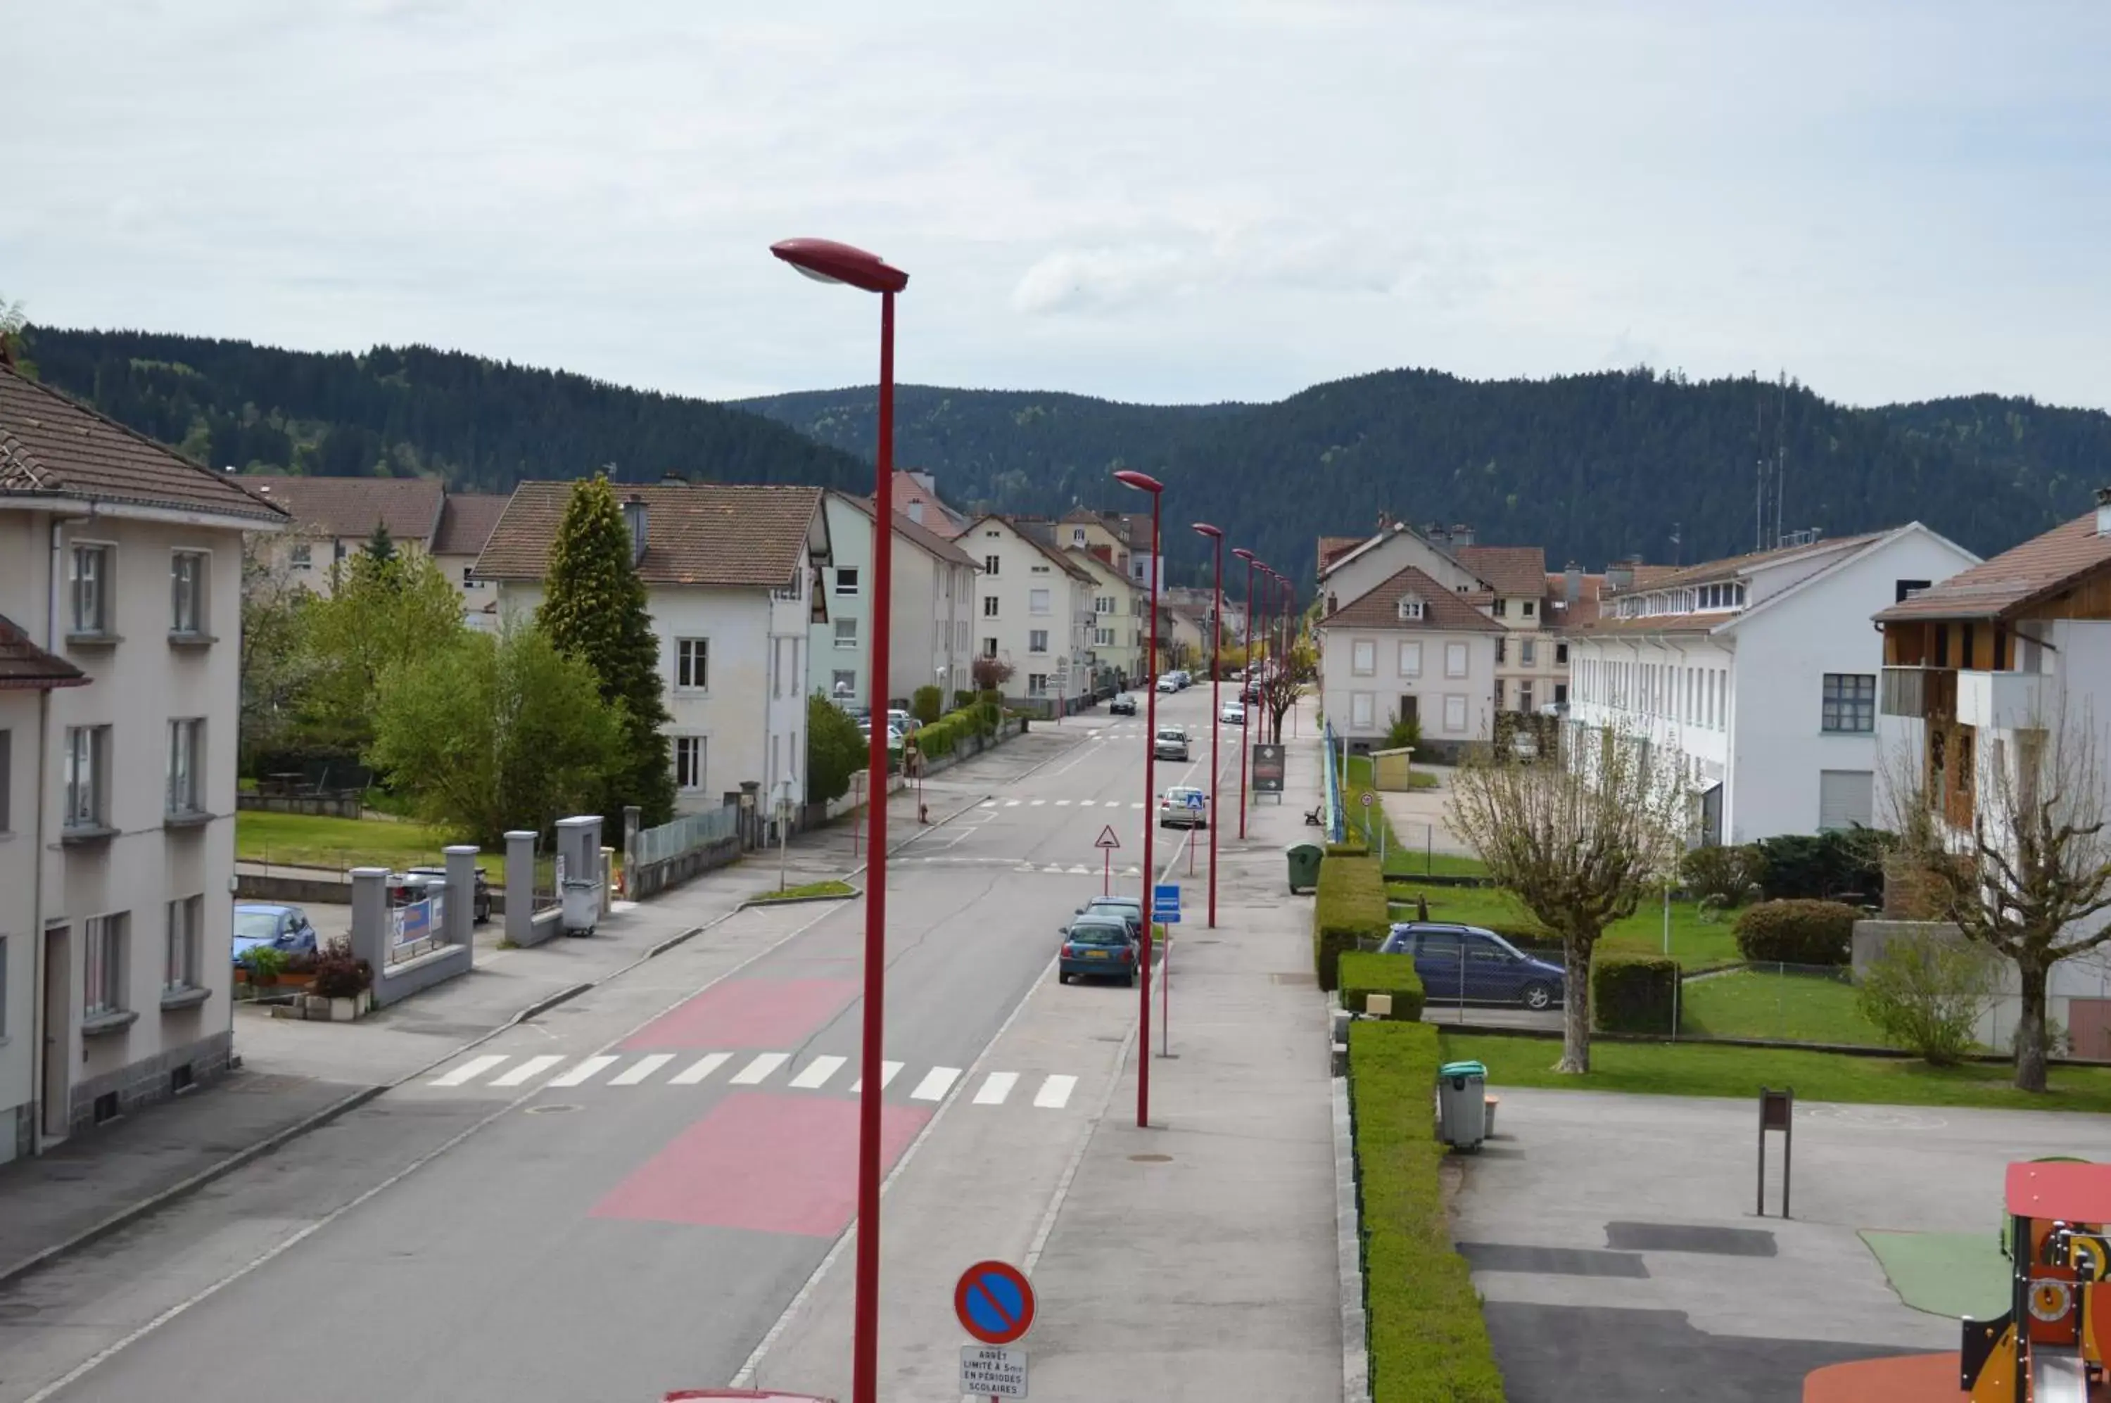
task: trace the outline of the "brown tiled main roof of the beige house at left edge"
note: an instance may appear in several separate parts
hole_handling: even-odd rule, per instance
[[[0,363],[0,500],[89,498],[279,523],[285,515],[213,473]]]

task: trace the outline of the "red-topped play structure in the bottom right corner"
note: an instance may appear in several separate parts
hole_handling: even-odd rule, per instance
[[[2008,1167],[2010,1308],[1963,1321],[1959,1388],[1972,1403],[2111,1397],[2111,1165]]]

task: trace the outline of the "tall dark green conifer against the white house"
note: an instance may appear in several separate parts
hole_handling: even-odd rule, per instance
[[[644,827],[673,816],[673,764],[661,694],[659,639],[646,614],[646,587],[631,561],[631,532],[606,477],[572,487],[536,614],[557,652],[578,658],[602,681],[602,698],[623,709],[627,764],[610,774],[602,800],[612,833],[635,804]]]

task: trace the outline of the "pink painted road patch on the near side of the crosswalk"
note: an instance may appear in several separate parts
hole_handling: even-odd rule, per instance
[[[931,1118],[880,1112],[885,1173]],[[836,1236],[857,1213],[857,1101],[737,1091],[593,1205],[593,1217]]]

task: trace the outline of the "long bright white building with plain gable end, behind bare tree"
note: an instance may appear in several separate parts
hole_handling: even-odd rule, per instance
[[[1632,582],[1571,629],[1568,717],[1663,747],[1701,842],[1875,823],[1877,671],[1868,618],[1978,557],[1921,523],[1807,538]]]

